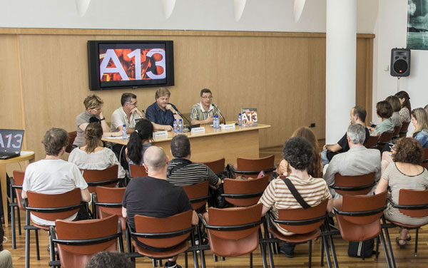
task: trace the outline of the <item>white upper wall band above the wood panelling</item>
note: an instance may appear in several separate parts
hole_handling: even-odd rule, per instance
[[[373,33],[377,1],[358,1],[357,33]],[[294,0],[247,0],[236,22],[233,0],[178,0],[168,20],[160,0],[91,0],[83,17],[75,0],[0,0],[0,27],[325,32],[325,0],[307,0],[297,24],[293,4]]]

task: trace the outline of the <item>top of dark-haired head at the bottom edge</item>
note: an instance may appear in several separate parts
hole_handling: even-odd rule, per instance
[[[133,263],[120,252],[98,252],[85,268],[133,268]]]

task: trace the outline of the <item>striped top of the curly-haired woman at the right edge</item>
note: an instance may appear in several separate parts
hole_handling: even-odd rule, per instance
[[[388,182],[389,190],[391,191],[391,200],[394,204],[398,204],[399,202],[399,190],[401,189],[428,189],[428,171],[426,169],[418,175],[408,176],[399,171],[395,163],[390,163],[384,171],[382,178]],[[392,207],[389,203],[384,214],[387,219],[393,220],[394,222],[400,222],[405,225],[422,225],[428,222],[428,217],[409,217],[399,212],[397,208]]]

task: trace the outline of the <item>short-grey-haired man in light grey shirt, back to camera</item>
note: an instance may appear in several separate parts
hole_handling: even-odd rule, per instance
[[[365,126],[352,124],[347,129],[347,142],[350,150],[336,155],[327,166],[324,180],[327,185],[335,184],[335,174],[342,176],[365,175],[376,172],[374,180],[377,182],[380,177],[380,153],[377,149],[367,149],[362,143],[365,140]],[[333,199],[342,197],[335,190],[330,188]],[[371,194],[370,192],[369,194]]]

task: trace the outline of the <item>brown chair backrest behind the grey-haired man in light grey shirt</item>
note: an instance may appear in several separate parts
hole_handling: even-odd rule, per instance
[[[330,188],[335,189],[339,195],[367,195],[376,182],[374,182],[375,172],[359,176],[342,176],[335,174],[335,184]]]

